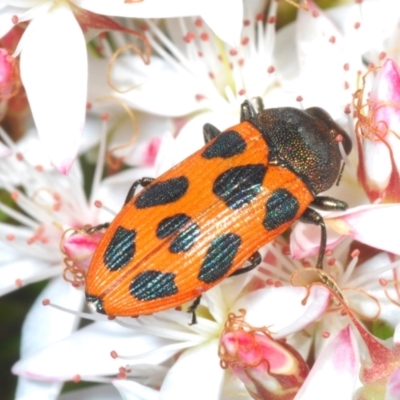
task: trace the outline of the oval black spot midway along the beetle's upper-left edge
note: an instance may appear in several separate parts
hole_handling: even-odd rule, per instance
[[[138,195],[135,206],[148,208],[173,203],[185,195],[188,187],[189,181],[185,176],[153,183]]]

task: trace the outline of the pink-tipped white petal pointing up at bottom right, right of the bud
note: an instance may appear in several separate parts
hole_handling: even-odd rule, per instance
[[[351,399],[360,366],[358,348],[350,326],[327,345],[296,395],[296,400]]]

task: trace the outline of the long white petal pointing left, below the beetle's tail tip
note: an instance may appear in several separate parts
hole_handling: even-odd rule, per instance
[[[143,355],[140,359],[130,360],[129,364],[139,361],[157,364],[171,356],[171,353],[161,349],[168,343],[170,341],[136,334],[132,329],[122,328],[116,322],[96,322],[18,361],[13,372],[25,377],[36,376],[53,381],[72,380],[77,374],[82,379],[87,376],[113,375],[118,373],[118,368],[124,362],[112,358],[112,351],[121,355]],[[158,349],[161,349],[160,352],[146,355]]]

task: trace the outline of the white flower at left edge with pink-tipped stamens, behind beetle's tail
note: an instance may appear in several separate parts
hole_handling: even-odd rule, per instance
[[[98,134],[101,124],[89,120],[87,128]],[[94,207],[94,196],[110,198],[108,205],[118,210],[135,173],[116,174],[101,181],[103,161],[100,158],[92,182],[92,197],[87,200],[79,164],[71,168],[68,177],[61,176],[46,163],[46,157],[34,138],[35,133],[28,133],[18,145],[14,145],[3,130],[0,134],[11,153],[0,159],[0,187],[9,192],[15,202],[12,207],[0,203],[0,209],[11,221],[18,223],[0,223],[0,294],[51,278],[44,295],[71,309],[81,310],[84,305],[82,291],[62,277],[65,266],[60,252],[61,237],[66,229],[109,219]],[[142,170],[142,173],[146,172],[151,173],[151,170]],[[67,337],[79,322],[76,316],[65,316],[55,310],[43,314],[42,307],[39,299],[24,322],[22,358]],[[40,398],[42,395],[50,396],[49,393],[57,396],[62,386],[58,382],[38,383],[29,379],[37,378],[33,375],[26,378],[19,380],[17,398],[24,398],[27,393],[36,393]]]

